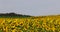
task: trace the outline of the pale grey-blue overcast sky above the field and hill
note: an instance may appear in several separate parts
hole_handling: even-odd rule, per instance
[[[0,13],[24,15],[60,14],[60,0],[0,0]]]

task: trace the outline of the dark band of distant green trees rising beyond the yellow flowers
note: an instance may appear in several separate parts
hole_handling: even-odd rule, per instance
[[[12,17],[12,18],[26,18],[26,17],[31,17],[31,16],[29,16],[29,15],[21,15],[21,14],[15,14],[15,13],[6,13],[6,14],[0,14],[0,18],[1,17],[4,17],[4,18],[10,18],[10,17]]]

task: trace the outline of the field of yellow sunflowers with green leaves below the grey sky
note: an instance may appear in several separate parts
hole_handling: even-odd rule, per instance
[[[60,32],[60,16],[0,18],[0,32]]]

